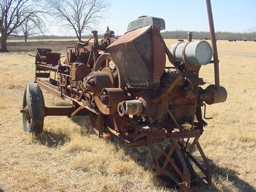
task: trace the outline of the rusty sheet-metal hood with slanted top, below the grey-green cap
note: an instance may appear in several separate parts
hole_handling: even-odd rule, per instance
[[[107,51],[130,86],[156,86],[165,66],[159,28],[138,28],[109,45]]]

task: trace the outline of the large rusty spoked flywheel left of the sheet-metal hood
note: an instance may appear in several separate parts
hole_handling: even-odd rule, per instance
[[[100,95],[95,95],[97,108],[104,115],[113,115],[118,111],[118,103],[124,98],[121,76],[118,66],[112,60],[110,54],[102,54],[96,64],[95,71],[105,72],[108,76],[108,85],[100,90]],[[101,85],[97,85],[101,87]]]

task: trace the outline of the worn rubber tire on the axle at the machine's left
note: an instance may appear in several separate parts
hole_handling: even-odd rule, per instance
[[[28,106],[28,112],[31,116],[30,121],[22,114],[24,132],[39,134],[42,132],[45,118],[45,100],[42,90],[37,83],[28,83],[23,95],[22,107]]]

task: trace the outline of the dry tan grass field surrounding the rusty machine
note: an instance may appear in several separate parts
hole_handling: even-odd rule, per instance
[[[167,40],[167,45],[175,42]],[[0,54],[0,191],[170,191],[150,168],[147,148],[127,149],[90,131],[87,118],[45,118],[39,138],[22,130],[22,95],[33,81],[36,47],[65,51],[73,42],[11,42]],[[200,138],[213,185],[198,191],[256,191],[256,42],[218,41],[228,100],[208,106]],[[213,65],[200,77],[214,82]],[[46,105],[65,104],[44,92]],[[65,101],[67,102],[67,101]]]

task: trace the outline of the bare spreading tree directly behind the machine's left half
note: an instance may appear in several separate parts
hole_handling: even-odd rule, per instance
[[[103,0],[49,0],[54,9],[53,15],[64,22],[64,25],[74,30],[77,39],[82,39],[82,34],[92,30],[97,20],[107,7]]]

